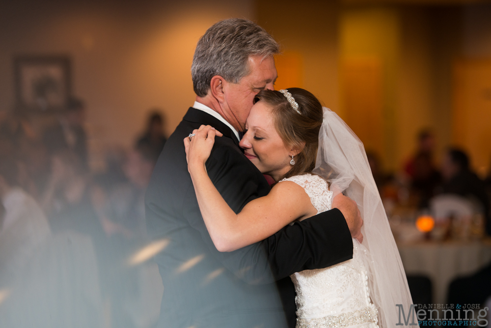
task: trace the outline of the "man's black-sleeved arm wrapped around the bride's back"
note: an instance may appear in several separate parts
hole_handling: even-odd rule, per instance
[[[207,171],[227,204],[239,212],[268,192],[265,180],[235,147],[217,145]],[[259,191],[259,192],[258,192]],[[305,269],[326,268],[351,259],[353,243],[342,213],[330,210],[286,226],[259,243],[230,253],[216,250],[201,217],[194,188],[186,196],[184,215],[223,265],[249,283],[271,283]]]

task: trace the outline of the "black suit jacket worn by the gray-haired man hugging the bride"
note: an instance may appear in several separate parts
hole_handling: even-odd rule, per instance
[[[166,245],[155,256],[164,284],[159,327],[295,327],[289,275],[351,259],[346,221],[333,209],[261,242],[218,252],[199,211],[183,143],[201,124],[223,133],[206,168],[235,212],[270,191],[230,128],[190,108],[166,142],[145,196],[148,233]]]

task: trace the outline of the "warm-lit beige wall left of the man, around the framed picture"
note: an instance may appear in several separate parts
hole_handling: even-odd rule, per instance
[[[2,1],[0,8],[0,110],[14,105],[14,55],[68,54],[96,167],[104,149],[132,145],[150,107],[164,110],[172,132],[194,101],[199,37],[220,19],[254,19],[251,1],[99,2]]]

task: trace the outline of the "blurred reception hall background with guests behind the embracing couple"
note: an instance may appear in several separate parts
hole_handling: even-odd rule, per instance
[[[2,0],[1,327],[155,325],[144,191],[193,104],[196,42],[230,17],[281,44],[277,89],[364,143],[414,302],[486,303],[490,1]]]

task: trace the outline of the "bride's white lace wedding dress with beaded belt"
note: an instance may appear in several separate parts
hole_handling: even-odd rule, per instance
[[[305,189],[317,213],[331,208],[332,191],[317,175],[295,176]],[[304,270],[290,277],[297,292],[297,328],[378,328],[377,309],[368,293],[367,268],[363,248],[353,239],[353,259],[335,266]]]

